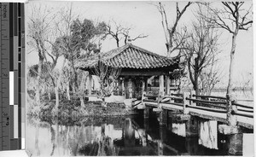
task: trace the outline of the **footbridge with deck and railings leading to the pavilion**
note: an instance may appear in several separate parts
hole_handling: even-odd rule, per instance
[[[195,91],[171,93],[164,96],[160,94],[151,96],[143,92],[142,101],[134,101],[134,108],[143,109],[145,119],[148,119],[150,109],[160,112],[160,125],[165,124],[169,111],[179,111],[181,116],[187,118],[194,115],[203,119],[214,119],[227,125],[234,124],[230,120],[236,120],[236,125],[248,129],[253,129],[254,123],[253,105],[231,102],[230,107],[226,97],[197,96]]]

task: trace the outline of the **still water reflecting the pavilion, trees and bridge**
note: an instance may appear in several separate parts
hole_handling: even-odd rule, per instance
[[[28,119],[26,150],[32,156],[253,154],[253,133],[224,136],[218,125],[194,118],[168,119],[166,126],[160,126],[157,118],[140,116],[91,118],[80,125]]]

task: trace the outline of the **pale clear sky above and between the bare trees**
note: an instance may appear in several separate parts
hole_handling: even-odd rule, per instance
[[[124,25],[131,26],[131,38],[139,34],[148,35],[148,38],[138,39],[132,44],[135,44],[143,49],[148,49],[159,55],[166,55],[166,39],[163,28],[161,26],[161,18],[158,9],[154,6],[158,2],[75,2],[73,3],[74,12],[80,15],[80,19],[103,20],[108,23],[109,20]],[[162,2],[166,5],[167,18],[169,23],[175,18],[175,2]],[[180,2],[180,7],[185,3]],[[31,15],[31,6],[41,5],[48,6],[53,12],[61,7],[70,5],[68,2],[42,2],[31,1],[26,3],[26,17]],[[247,2],[251,5],[251,1]],[[219,2],[214,3],[214,6],[221,6]],[[195,20],[196,4],[193,4],[183,15],[179,26],[191,26],[191,22]],[[26,22],[29,19],[26,18]],[[230,48],[231,34],[223,31],[219,43],[221,44],[221,54],[219,55],[219,70],[223,71],[224,78],[220,84],[226,85],[228,81],[228,70],[230,65]],[[121,43],[121,45],[123,45]],[[102,43],[102,51],[108,51],[116,48],[115,41],[106,40]],[[29,54],[28,54],[29,53]],[[247,79],[248,73],[253,73],[253,28],[249,31],[240,31],[236,41],[236,58],[235,58],[235,81]],[[37,64],[38,55],[36,52],[31,52],[27,46],[26,64],[27,66]]]

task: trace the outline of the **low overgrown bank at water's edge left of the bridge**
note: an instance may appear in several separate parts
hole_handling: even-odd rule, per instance
[[[34,119],[50,123],[74,124],[83,122],[88,117],[112,117],[130,115],[131,109],[125,108],[124,103],[108,103],[102,107],[102,102],[84,102],[84,108],[80,106],[79,100],[61,100],[58,108],[55,101],[43,102],[40,106],[30,105],[27,115]]]

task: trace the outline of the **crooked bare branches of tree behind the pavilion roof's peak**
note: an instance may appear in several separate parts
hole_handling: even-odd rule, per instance
[[[135,38],[131,38],[130,32],[131,27],[128,26],[122,26],[121,24],[117,23],[113,20],[113,22],[108,22],[107,29],[104,31],[105,36],[103,38],[106,38],[108,36],[112,37],[115,42],[116,46],[119,47],[120,41],[124,40],[124,44],[127,44],[128,42],[135,41],[139,38],[147,38],[148,35],[139,34]]]

